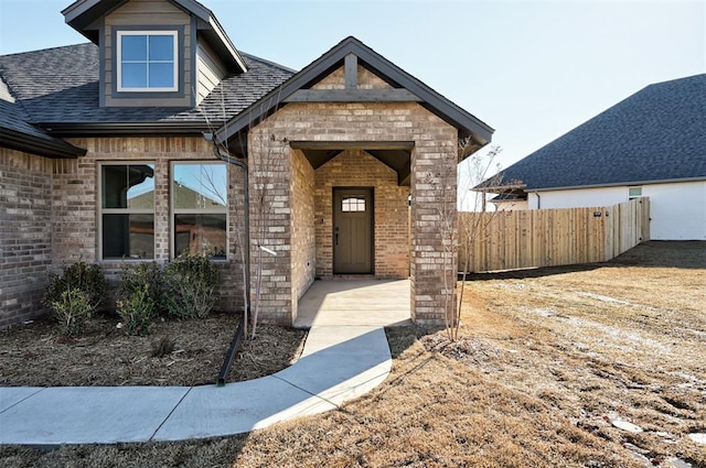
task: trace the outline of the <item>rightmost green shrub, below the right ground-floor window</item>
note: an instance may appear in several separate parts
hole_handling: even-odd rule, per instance
[[[211,257],[180,255],[165,269],[168,309],[179,318],[205,318],[218,301],[218,268]]]

